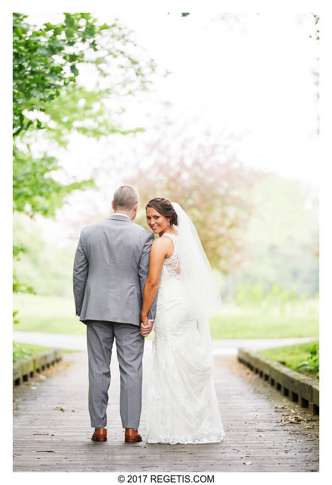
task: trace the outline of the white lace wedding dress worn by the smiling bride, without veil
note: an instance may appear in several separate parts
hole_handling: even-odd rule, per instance
[[[212,354],[202,342],[197,314],[188,304],[179,236],[165,233],[174,253],[164,260],[153,326],[148,385],[148,443],[215,443],[224,438]]]

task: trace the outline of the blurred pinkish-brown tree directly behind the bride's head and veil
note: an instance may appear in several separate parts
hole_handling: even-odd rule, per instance
[[[147,145],[148,169],[138,163],[128,179],[140,195],[137,223],[146,226],[145,206],[154,197],[179,203],[194,222],[211,266],[227,274],[243,261],[243,234],[255,208],[249,189],[263,175],[230,153],[232,137],[220,142],[207,132],[196,141],[175,133],[167,142],[163,130]]]

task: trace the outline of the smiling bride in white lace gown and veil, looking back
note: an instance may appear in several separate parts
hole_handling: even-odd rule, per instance
[[[224,438],[212,377],[208,324],[221,309],[219,290],[196,229],[181,206],[148,202],[147,222],[159,238],[151,247],[141,334],[158,289],[153,365],[148,386],[148,443],[215,443]]]

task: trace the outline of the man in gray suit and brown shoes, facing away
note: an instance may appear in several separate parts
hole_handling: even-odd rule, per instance
[[[76,314],[87,326],[89,359],[89,413],[93,441],[106,441],[106,408],[110,384],[110,361],[115,338],[120,366],[120,415],[126,429],[125,442],[141,441],[144,336],[140,334],[140,310],[149,272],[154,235],[133,224],[139,195],[124,185],[115,190],[113,215],[83,227],[74,261]],[[143,335],[155,317],[156,299]]]

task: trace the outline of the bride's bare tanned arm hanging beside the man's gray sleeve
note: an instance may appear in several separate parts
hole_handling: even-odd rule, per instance
[[[160,237],[152,243],[149,274],[144,287],[143,307],[140,313],[143,321],[148,318],[148,311],[157,293],[162,264],[167,254],[170,253],[171,245],[173,245],[173,242],[169,237]]]

